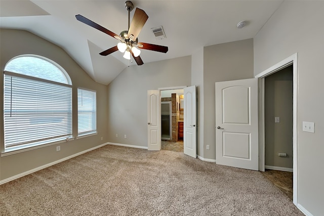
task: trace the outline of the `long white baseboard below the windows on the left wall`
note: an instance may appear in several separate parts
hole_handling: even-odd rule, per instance
[[[23,176],[26,176],[26,175],[28,175],[28,174],[31,174],[31,173],[35,172],[35,171],[38,171],[38,170],[44,169],[44,168],[46,168],[46,167],[52,166],[52,165],[54,165],[54,164],[56,164],[56,163],[60,163],[60,162],[62,162],[62,161],[64,161],[64,160],[68,160],[68,159],[70,159],[70,158],[72,158],[72,157],[76,157],[76,156],[78,156],[78,155],[81,155],[81,154],[84,154],[84,153],[90,152],[90,151],[92,151],[92,150],[95,150],[95,149],[101,148],[101,147],[103,147],[103,146],[105,146],[105,145],[107,145],[107,143],[101,144],[101,145],[96,146],[96,147],[93,147],[93,148],[91,148],[91,149],[87,149],[87,150],[82,151],[82,152],[78,152],[78,153],[76,153],[76,154],[72,154],[72,155],[70,155],[70,156],[64,157],[64,158],[62,158],[62,159],[56,160],[56,161],[51,162],[51,163],[48,163],[48,164],[45,164],[45,165],[43,165],[43,166],[39,166],[39,167],[36,167],[36,168],[34,168],[34,169],[30,169],[30,170],[25,171],[25,172],[22,172],[21,174],[18,174],[18,175],[16,175],[16,176],[12,176],[12,177],[10,177],[10,178],[8,178],[8,179],[1,180],[1,181],[0,181],[0,185],[5,184],[5,183],[10,182],[10,181],[13,181],[13,180],[15,180],[15,179],[19,179],[19,178],[21,178],[21,177],[23,177]]]

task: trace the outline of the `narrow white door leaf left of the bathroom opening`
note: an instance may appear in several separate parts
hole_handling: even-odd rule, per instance
[[[160,91],[147,91],[147,149],[161,150]]]

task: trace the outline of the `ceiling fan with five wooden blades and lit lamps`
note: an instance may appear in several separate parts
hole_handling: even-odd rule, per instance
[[[131,1],[126,1],[125,7],[128,11],[128,30],[121,31],[119,35],[113,33],[112,31],[109,31],[108,29],[87,19],[86,17],[84,17],[82,15],[75,15],[75,17],[78,21],[83,22],[91,27],[94,27],[94,28],[119,40],[117,46],[112,47],[108,50],[105,50],[105,51],[99,53],[102,56],[107,56],[107,55],[119,50],[121,53],[124,53],[123,57],[125,59],[130,60],[131,55],[132,55],[133,58],[135,59],[136,63],[138,65],[142,65],[144,63],[143,63],[141,57],[139,56],[141,53],[141,51],[139,49],[167,53],[169,50],[168,47],[147,44],[144,42],[138,42],[137,36],[139,35],[140,31],[142,30],[146,20],[148,19],[148,16],[143,10],[136,8],[132,23],[130,24],[130,13],[134,9],[134,5]]]

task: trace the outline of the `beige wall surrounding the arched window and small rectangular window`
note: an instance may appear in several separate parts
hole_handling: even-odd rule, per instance
[[[77,88],[82,87],[97,91],[97,131],[98,135],[78,139],[70,142],[59,144],[61,151],[56,152],[56,146],[48,146],[35,150],[30,150],[22,153],[17,153],[8,156],[0,157],[0,180],[10,178],[12,176],[21,174],[22,172],[31,170],[33,168],[51,163],[53,161],[68,157],[78,152],[96,147],[100,144],[106,143],[108,137],[107,132],[107,93],[106,85],[102,85],[93,81],[89,75],[80,68],[64,50],[51,42],[42,39],[32,33],[22,30],[0,30],[0,71],[1,71],[1,86],[3,87],[3,72],[5,64],[15,56],[22,54],[35,54],[49,58],[59,65],[61,65],[69,74],[72,80],[72,122],[73,122],[73,136],[77,136]],[[3,88],[1,88],[1,104],[3,107]],[[3,149],[4,131],[3,131],[3,111],[1,114],[0,127],[0,141]],[[103,141],[101,141],[103,137]]]

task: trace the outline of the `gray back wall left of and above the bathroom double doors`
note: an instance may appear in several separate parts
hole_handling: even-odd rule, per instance
[[[190,84],[190,56],[127,67],[108,85],[109,142],[147,147],[147,90]]]

